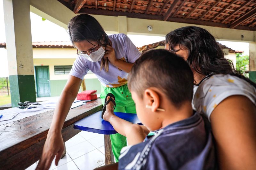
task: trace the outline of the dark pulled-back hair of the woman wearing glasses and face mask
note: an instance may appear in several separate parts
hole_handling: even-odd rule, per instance
[[[91,43],[91,41],[97,41],[100,46],[106,47],[108,44],[108,35],[105,33],[104,29],[100,25],[100,23],[88,14],[80,14],[72,19],[70,19],[68,23],[68,33],[71,42],[80,42],[87,40]],[[92,44],[92,43],[91,43]],[[92,44],[97,46],[98,44]],[[101,66],[105,67],[105,71],[108,72],[108,60],[102,58]]]

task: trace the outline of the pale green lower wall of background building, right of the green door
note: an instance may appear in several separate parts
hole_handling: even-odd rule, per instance
[[[50,80],[51,96],[60,96],[68,80]],[[85,79],[86,90],[97,90],[100,93],[100,81],[97,78]],[[79,92],[82,92],[80,87]]]

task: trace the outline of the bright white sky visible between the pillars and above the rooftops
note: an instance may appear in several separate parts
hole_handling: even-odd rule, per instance
[[[31,33],[32,42],[37,41],[69,41],[69,35],[67,31],[48,21],[42,21],[42,17],[30,12],[31,18]],[[4,28],[4,10],[3,1],[0,0],[0,42],[6,42],[5,28]],[[171,31],[171,30],[170,30]],[[145,36],[145,35],[129,35],[128,37],[132,40],[136,47],[142,47],[143,45],[151,44],[154,42],[162,41],[165,37],[157,36]],[[242,42],[230,42],[230,41],[219,41],[221,44],[226,45],[229,48],[238,51],[244,51],[244,54],[249,54],[249,43]],[[74,54],[75,55],[75,54]],[[6,49],[0,48],[0,77],[8,76],[8,63]]]

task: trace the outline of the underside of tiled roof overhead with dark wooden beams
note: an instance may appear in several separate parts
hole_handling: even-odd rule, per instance
[[[58,0],[74,13],[256,31],[256,0]]]

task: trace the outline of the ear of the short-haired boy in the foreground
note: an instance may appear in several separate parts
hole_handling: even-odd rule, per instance
[[[160,105],[159,94],[152,88],[148,88],[144,92],[146,104],[151,106],[151,111],[156,112],[156,109]]]

